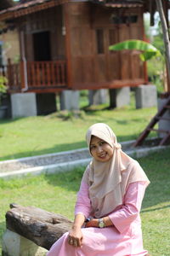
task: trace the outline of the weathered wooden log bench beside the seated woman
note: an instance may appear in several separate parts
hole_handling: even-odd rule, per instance
[[[48,250],[54,241],[71,229],[71,220],[54,212],[17,204],[11,204],[10,207],[6,213],[7,229]]]

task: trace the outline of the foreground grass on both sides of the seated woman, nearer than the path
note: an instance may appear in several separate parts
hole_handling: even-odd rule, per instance
[[[151,256],[169,256],[170,252],[170,149],[139,159],[150,178],[141,211],[144,248]],[[83,168],[55,175],[28,176],[0,180],[0,236],[5,230],[5,212],[11,202],[22,206],[41,207],[73,219],[77,190]],[[40,189],[41,188],[41,189]]]

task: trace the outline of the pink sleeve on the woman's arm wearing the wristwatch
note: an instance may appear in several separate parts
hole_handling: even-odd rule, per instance
[[[123,199],[123,205],[118,210],[111,212],[109,217],[116,229],[122,233],[127,230],[130,224],[139,218],[139,211],[144,198],[145,183],[131,183],[127,188],[127,193]]]

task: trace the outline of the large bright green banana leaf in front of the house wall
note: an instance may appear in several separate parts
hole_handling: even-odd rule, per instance
[[[122,50],[122,49],[137,49],[143,51],[139,57],[141,61],[148,61],[152,57],[161,55],[159,49],[156,49],[152,44],[146,43],[142,40],[127,40],[118,44],[113,44],[109,47],[110,50]]]

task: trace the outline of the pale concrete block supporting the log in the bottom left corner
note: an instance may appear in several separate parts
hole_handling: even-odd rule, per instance
[[[47,252],[46,249],[38,247],[33,241],[10,230],[6,230],[3,234],[3,256],[45,256]]]

